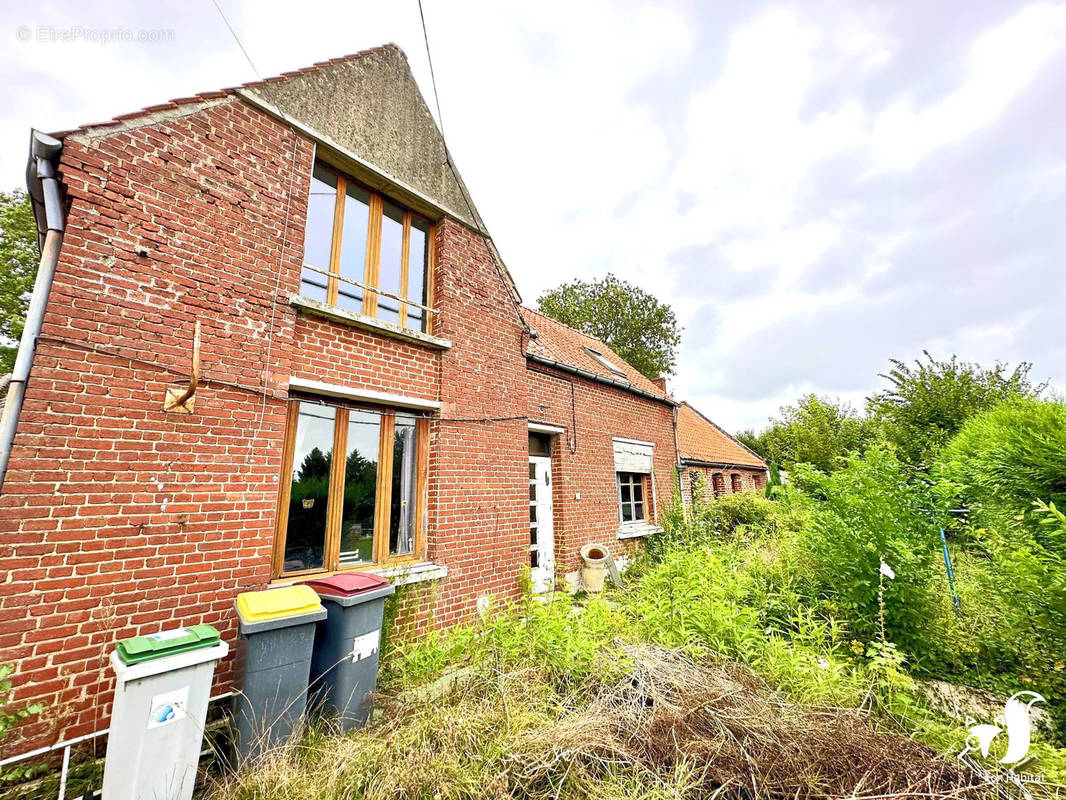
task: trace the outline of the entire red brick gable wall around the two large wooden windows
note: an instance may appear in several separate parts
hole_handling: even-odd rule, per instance
[[[107,726],[116,640],[194,622],[233,640],[235,595],[270,577],[290,375],[443,403],[429,542],[449,575],[407,627],[517,594],[524,358],[482,239],[438,231],[449,351],[300,317],[311,143],[232,100],[135,124],[65,143],[66,240],[0,497],[0,662],[18,704],[50,708],[5,754]],[[164,414],[197,319],[196,412]]]

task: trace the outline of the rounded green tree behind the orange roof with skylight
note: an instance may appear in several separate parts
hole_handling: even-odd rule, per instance
[[[681,341],[677,317],[640,287],[609,274],[563,284],[537,303],[543,314],[607,342],[647,378],[674,373]]]

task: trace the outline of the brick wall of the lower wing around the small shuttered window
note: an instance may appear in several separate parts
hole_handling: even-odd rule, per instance
[[[558,577],[578,569],[581,547],[592,542],[605,544],[612,555],[631,554],[639,540],[618,539],[613,439],[655,443],[661,516],[671,503],[676,475],[673,407],[532,362],[529,381],[530,419],[567,429],[552,442]]]

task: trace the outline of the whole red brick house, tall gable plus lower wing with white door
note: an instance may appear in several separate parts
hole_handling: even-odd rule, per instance
[[[106,730],[114,642],[232,640],[239,592],[374,570],[419,631],[657,530],[678,404],[521,307],[399,48],[54,137],[0,494],[0,662],[49,709],[5,749]]]

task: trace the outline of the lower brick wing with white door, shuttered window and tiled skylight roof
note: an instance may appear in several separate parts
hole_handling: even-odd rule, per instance
[[[522,315],[528,324],[530,538],[543,559],[553,537],[556,567],[572,573],[579,550],[589,542],[609,543],[613,554],[625,557],[637,540],[659,530],[656,521],[674,490],[677,403],[598,339],[530,308]],[[545,492],[550,476],[540,469],[555,476],[550,497]],[[605,497],[616,502],[600,499]],[[537,550],[531,556],[534,579],[550,580],[551,566],[544,571]]]

